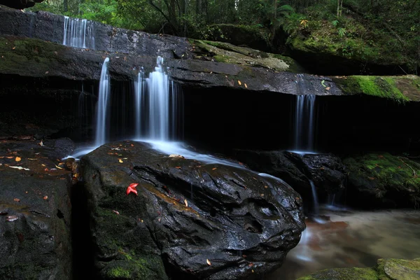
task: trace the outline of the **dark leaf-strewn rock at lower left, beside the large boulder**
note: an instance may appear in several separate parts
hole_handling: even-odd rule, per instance
[[[57,158],[69,139],[0,144],[2,279],[72,279],[69,172]]]

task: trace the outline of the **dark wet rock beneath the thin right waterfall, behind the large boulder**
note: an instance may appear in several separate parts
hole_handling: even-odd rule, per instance
[[[344,188],[346,179],[342,161],[330,154],[298,155],[288,151],[235,151],[235,158],[251,169],[279,177],[311,203],[311,183],[325,197]]]

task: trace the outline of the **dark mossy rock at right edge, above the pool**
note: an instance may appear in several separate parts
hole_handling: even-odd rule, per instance
[[[389,153],[369,153],[343,160],[349,171],[351,200],[371,206],[415,206],[420,201],[420,164]]]

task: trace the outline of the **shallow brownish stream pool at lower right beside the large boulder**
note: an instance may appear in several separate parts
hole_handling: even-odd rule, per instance
[[[265,279],[295,280],[322,269],[373,267],[379,258],[420,258],[419,214],[414,209],[357,211],[323,205],[324,222],[307,218],[300,243]]]

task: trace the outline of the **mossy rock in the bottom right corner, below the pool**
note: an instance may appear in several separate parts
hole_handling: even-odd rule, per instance
[[[420,258],[402,260],[379,259],[376,267],[332,268],[315,272],[297,280],[417,280],[420,279]]]

